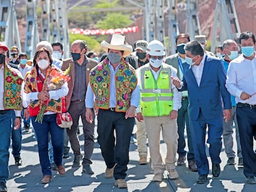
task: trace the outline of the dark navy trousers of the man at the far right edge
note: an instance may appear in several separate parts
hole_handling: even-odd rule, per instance
[[[256,177],[256,154],[254,152],[254,138],[256,135],[255,117],[256,108],[236,107],[245,177]]]

